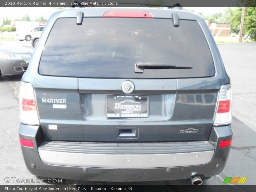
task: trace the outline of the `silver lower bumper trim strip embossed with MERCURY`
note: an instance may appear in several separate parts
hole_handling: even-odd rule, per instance
[[[209,163],[214,150],[173,154],[84,154],[38,149],[44,163],[98,168],[157,168]]]

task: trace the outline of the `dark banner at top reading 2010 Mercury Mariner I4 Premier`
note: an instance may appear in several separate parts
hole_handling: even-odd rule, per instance
[[[256,0],[1,0],[1,7],[255,7]]]

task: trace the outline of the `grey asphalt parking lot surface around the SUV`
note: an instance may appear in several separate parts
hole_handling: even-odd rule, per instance
[[[2,43],[2,42],[0,42]],[[31,48],[30,42],[10,41]],[[233,91],[233,143],[223,171],[204,185],[222,185],[225,177],[248,177],[244,185],[255,185],[256,174],[256,43],[218,45]],[[21,76],[0,78],[0,185],[48,185],[41,183],[6,183],[4,178],[34,179],[24,164],[19,143],[19,85]],[[157,180],[157,178],[156,178]],[[187,180],[110,183],[68,180],[72,185],[191,185]],[[236,185],[236,184],[235,184]]]

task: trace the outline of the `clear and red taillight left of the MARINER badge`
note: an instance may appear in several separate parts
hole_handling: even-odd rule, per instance
[[[20,83],[20,122],[39,124],[34,88],[30,83],[25,82]]]

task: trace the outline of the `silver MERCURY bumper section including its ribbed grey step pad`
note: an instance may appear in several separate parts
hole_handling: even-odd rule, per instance
[[[45,141],[44,163],[98,168],[159,168],[206,164],[214,147],[208,141],[162,143],[92,143]],[[56,158],[58,156],[58,158]]]

